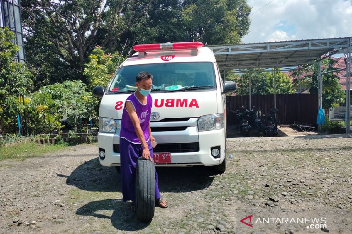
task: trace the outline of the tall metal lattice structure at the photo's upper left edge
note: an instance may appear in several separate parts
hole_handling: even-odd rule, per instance
[[[7,27],[15,34],[14,44],[20,47],[15,55],[18,62],[25,62],[22,20],[19,0],[0,0],[0,27]]]

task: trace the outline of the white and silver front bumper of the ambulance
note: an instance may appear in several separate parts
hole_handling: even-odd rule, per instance
[[[102,166],[111,167],[120,165],[120,153],[118,151],[120,138],[119,130],[120,129],[118,129],[115,134],[98,133],[99,150],[105,151],[105,158],[102,159],[99,157]],[[153,132],[152,134],[158,144],[199,144],[199,150],[196,152],[171,152],[171,163],[157,163],[156,166],[158,167],[188,167],[195,165],[213,166],[219,165],[225,158],[226,136],[224,128],[213,131],[198,132],[196,126],[190,126],[185,131]],[[213,147],[220,147],[220,155],[217,157],[214,157],[211,154]],[[166,152],[163,153],[168,153],[167,149]]]

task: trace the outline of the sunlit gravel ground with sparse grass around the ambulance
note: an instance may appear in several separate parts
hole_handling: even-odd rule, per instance
[[[229,139],[224,174],[157,168],[169,208],[150,223],[122,202],[120,175],[100,166],[96,145],[2,161],[0,234],[351,233],[351,148],[345,134]]]

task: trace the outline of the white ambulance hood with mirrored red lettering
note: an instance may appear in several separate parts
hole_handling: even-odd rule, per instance
[[[121,119],[125,100],[129,95],[104,95],[100,104],[100,116]],[[218,113],[215,91],[152,93],[151,95],[152,112],[160,114],[157,120],[193,118]]]

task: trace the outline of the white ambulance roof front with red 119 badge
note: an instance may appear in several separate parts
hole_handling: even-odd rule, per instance
[[[146,52],[144,58],[138,52],[126,59],[121,66],[167,63],[167,62],[216,62],[213,52],[207,47],[198,48],[197,55],[191,55],[190,49]]]

